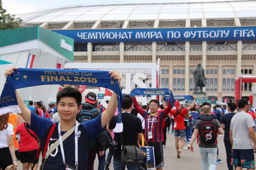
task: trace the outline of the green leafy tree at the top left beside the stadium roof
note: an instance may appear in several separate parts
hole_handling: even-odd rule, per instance
[[[20,27],[21,22],[20,18],[6,14],[6,9],[2,8],[2,1],[0,0],[0,30],[17,29]]]

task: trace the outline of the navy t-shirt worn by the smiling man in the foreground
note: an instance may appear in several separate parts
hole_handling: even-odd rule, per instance
[[[52,127],[53,122],[39,117],[38,115],[31,114],[31,126],[30,128],[39,136],[42,151],[45,148],[48,132]],[[91,141],[96,138],[103,131],[101,128],[101,115],[93,120],[82,123],[78,127],[78,169],[87,169],[87,160],[89,155],[89,146]],[[62,132],[62,135],[65,132]],[[58,140],[58,123],[56,123],[55,130],[50,138],[50,145]],[[71,133],[65,141],[63,141],[63,148],[65,152],[66,164],[75,168],[75,133]],[[63,164],[62,153],[60,151],[60,145],[50,154],[45,161],[43,169],[66,169]]]

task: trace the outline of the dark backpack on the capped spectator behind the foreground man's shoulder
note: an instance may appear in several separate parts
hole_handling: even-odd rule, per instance
[[[76,120],[79,123],[87,122],[88,120],[94,119],[99,115],[99,111],[96,108],[91,110],[81,109],[81,111],[76,115]]]

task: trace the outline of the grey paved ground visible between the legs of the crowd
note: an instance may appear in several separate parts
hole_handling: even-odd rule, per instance
[[[218,138],[219,146],[219,158],[222,159],[222,163],[217,164],[217,169],[224,170],[227,169],[226,164],[226,151],[223,143],[223,136]],[[173,169],[173,170],[199,170],[201,169],[201,161],[199,149],[196,143],[194,143],[194,153],[190,150],[182,150],[181,158],[176,158],[175,151],[175,138],[173,134],[167,134],[167,145],[163,148],[163,154],[165,158],[165,168],[163,169]],[[22,164],[18,161],[18,170],[22,169]],[[98,161],[94,162],[94,169],[98,169]],[[114,169],[112,164],[110,169]]]

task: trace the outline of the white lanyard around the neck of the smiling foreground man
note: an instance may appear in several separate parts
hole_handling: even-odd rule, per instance
[[[77,136],[78,125],[79,123],[76,121],[76,125],[75,125],[76,126],[75,127],[75,167],[76,169],[78,169],[78,136]],[[58,140],[60,140],[60,151],[62,153],[63,164],[66,167],[69,167],[68,164],[66,164],[65,153],[64,153],[63,142],[62,142],[62,133],[60,130],[60,122],[58,123]]]

